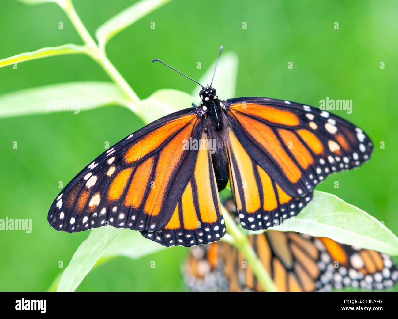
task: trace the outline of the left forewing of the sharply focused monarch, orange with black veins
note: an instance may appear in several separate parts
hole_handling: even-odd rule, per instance
[[[163,229],[198,155],[183,147],[201,136],[192,111],[150,123],[86,166],[51,205],[50,225],[68,232],[103,225]]]

